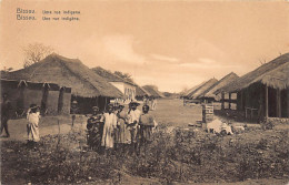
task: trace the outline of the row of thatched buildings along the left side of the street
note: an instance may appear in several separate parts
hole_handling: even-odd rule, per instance
[[[161,97],[158,93],[152,94],[153,91],[102,68],[89,69],[78,59],[56,53],[28,68],[1,74],[1,94],[8,94],[19,115],[32,103],[40,105],[44,114],[69,114],[74,101],[79,113],[87,114],[96,105],[106,110],[111,100]]]

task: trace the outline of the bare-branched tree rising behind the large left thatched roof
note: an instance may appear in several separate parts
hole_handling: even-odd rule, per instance
[[[42,43],[30,43],[28,47],[23,48],[23,68],[27,68],[51,54],[53,52],[53,49],[51,47],[43,45]]]

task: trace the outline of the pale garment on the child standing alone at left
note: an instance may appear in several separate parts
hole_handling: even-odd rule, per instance
[[[27,124],[27,134],[28,134],[28,140],[33,141],[33,142],[39,142],[40,136],[39,136],[39,119],[40,119],[40,113],[28,113],[27,114],[28,119],[28,124]]]

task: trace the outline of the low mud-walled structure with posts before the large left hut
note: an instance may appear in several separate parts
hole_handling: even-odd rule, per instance
[[[8,94],[14,115],[23,115],[32,103],[40,106],[42,115],[70,113],[70,88],[1,79],[1,97],[3,93]]]

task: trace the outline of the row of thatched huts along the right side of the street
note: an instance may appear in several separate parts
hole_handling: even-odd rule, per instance
[[[240,78],[231,72],[219,81],[210,79],[182,96],[188,102],[220,102],[221,110],[235,104],[250,120],[289,117],[289,53]],[[229,105],[225,107],[225,103]]]

